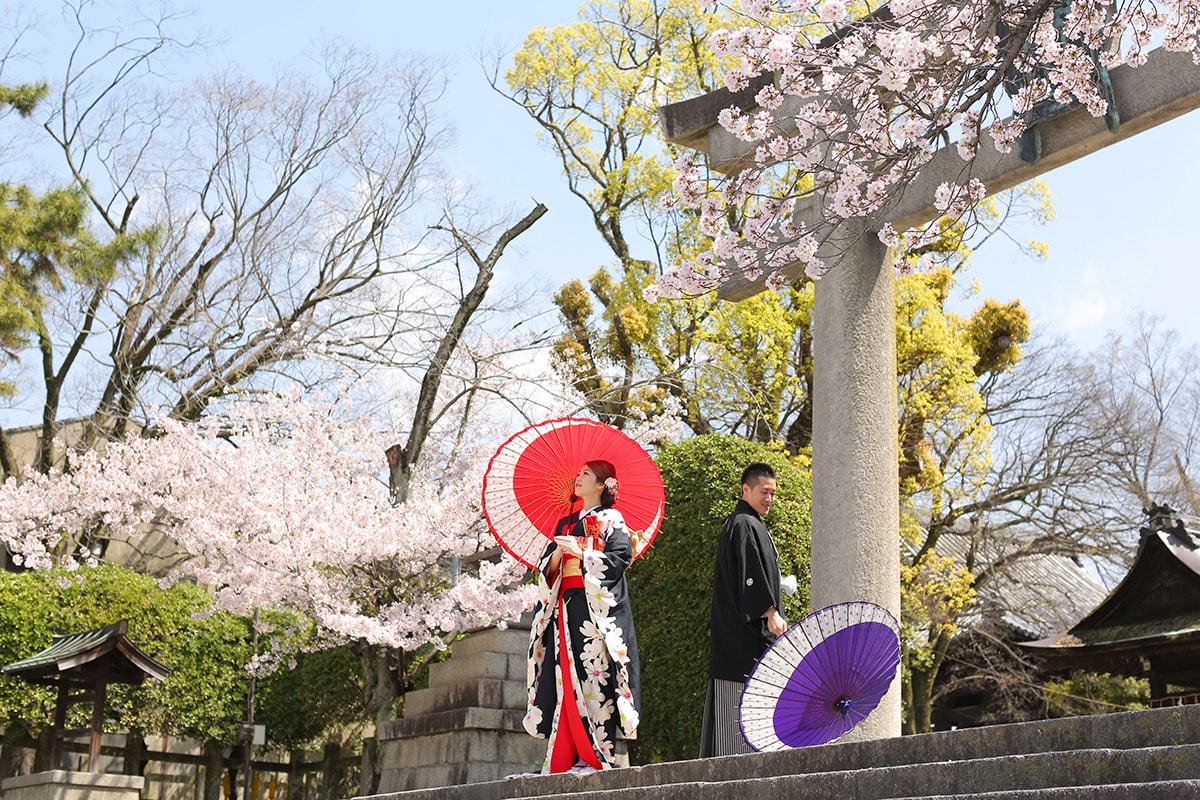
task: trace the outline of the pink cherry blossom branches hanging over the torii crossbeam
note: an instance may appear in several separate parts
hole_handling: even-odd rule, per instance
[[[718,4],[709,1],[708,7]],[[781,6],[788,11],[780,11]],[[710,43],[733,56],[726,86],[756,86],[756,106],[732,107],[720,124],[746,143],[744,168],[714,178],[696,155],[677,162],[677,198],[698,210],[712,247],[667,270],[648,297],[692,295],[730,277],[779,288],[779,270],[820,277],[835,255],[830,234],[848,219],[889,246],[920,247],[940,234],[894,230],[889,211],[952,140],[959,179],[937,187],[934,206],[970,222],[985,196],[972,175],[989,146],[1007,152],[1034,106],[1080,103],[1104,115],[1103,70],[1138,66],[1156,43],[1196,52],[1200,8],[1187,0],[743,0],[745,25]],[[800,198],[820,211],[796,218]],[[744,227],[728,219],[744,205]],[[820,253],[818,253],[820,251]]]

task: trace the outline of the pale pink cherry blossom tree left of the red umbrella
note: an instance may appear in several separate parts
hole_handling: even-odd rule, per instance
[[[510,557],[451,569],[492,545],[480,459],[418,470],[395,504],[385,434],[344,396],[266,395],[157,425],[160,435],[83,453],[70,473],[10,479],[0,542],[28,567],[70,566],[92,560],[89,537],[157,528],[187,553],[168,581],[211,587],[216,608],[246,616],[299,613],[314,633],[298,646],[432,652],[532,604]],[[378,718],[390,718],[384,705]]]

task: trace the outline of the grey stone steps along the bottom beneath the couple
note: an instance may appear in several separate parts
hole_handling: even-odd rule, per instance
[[[394,800],[1165,800],[1200,798],[1200,705],[852,741]]]

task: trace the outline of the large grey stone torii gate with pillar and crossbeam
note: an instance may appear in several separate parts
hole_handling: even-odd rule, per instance
[[[1038,124],[1042,157],[1037,163],[1022,162],[1016,148],[1009,154],[980,148],[972,176],[989,193],[1000,192],[1200,107],[1200,67],[1190,54],[1156,50],[1138,68],[1114,68],[1110,79],[1121,119],[1116,133],[1109,132],[1103,118],[1076,108]],[[757,89],[718,90],[662,107],[659,115],[666,139],[704,152],[710,169],[737,173],[752,162],[755,145],[725,131],[716,119],[731,106],[754,107]],[[954,148],[940,150],[893,209],[893,227],[905,230],[935,219],[935,188],[959,179],[964,167]],[[810,198],[799,204],[797,218],[812,225],[820,211],[820,198]],[[829,260],[833,269],[816,282],[811,596],[814,608],[865,600],[899,618],[894,275],[875,233],[863,223],[845,223],[830,241],[836,261]],[[802,269],[793,264],[782,272],[794,278]],[[763,288],[762,281],[737,278],[718,295],[737,301]],[[896,681],[875,712],[846,738],[899,734]]]

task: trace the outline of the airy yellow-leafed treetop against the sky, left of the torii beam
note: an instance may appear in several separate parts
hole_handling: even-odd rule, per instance
[[[652,210],[671,188],[658,108],[718,85],[704,41],[715,19],[698,0],[593,0],[574,25],[534,29],[504,76],[610,243],[619,233],[606,225]]]

